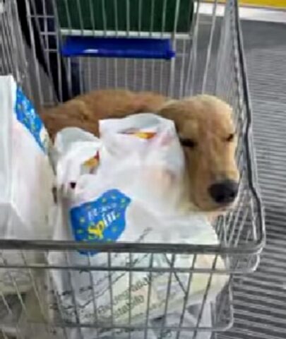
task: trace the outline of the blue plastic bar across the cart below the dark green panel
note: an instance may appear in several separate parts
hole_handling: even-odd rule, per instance
[[[64,57],[112,57],[135,59],[172,59],[169,39],[136,37],[68,36],[61,47]]]

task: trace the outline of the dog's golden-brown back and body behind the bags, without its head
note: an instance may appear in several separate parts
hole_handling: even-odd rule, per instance
[[[50,136],[64,127],[79,127],[98,136],[98,121],[125,117],[140,112],[157,112],[166,97],[154,93],[129,90],[95,90],[79,95],[52,109],[40,112]]]

